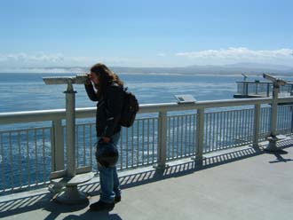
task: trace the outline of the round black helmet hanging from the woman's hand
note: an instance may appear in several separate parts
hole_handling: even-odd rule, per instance
[[[99,140],[97,143],[96,159],[103,167],[114,167],[119,158],[117,148],[112,142],[104,142]]]

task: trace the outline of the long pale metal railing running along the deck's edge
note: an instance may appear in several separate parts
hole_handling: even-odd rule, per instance
[[[203,153],[249,143],[257,145],[270,129],[271,107],[262,105],[271,102],[271,98],[247,98],[141,105],[134,125],[122,130],[118,169],[151,164],[160,167],[178,158],[201,159]],[[293,98],[279,98],[279,103],[292,102]],[[245,109],[229,108],[234,106]],[[279,106],[277,128],[283,134],[292,133],[292,109]],[[94,107],[76,109],[76,119],[83,119],[75,130],[76,167],[96,167],[92,147],[96,141],[95,112]],[[65,169],[64,118],[64,109],[0,114],[0,192],[44,185],[51,171]],[[28,122],[46,126],[27,128]],[[25,128],[5,129],[9,124]]]

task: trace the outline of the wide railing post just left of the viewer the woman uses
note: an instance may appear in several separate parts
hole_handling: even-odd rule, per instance
[[[64,134],[62,120],[52,121],[51,171],[64,169]]]

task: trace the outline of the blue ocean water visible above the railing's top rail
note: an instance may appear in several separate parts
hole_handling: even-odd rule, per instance
[[[43,77],[57,74],[0,74],[0,113],[65,107],[66,85],[46,85]],[[59,74],[58,76],[75,75]],[[175,102],[174,95],[191,94],[197,100],[233,98],[242,75],[120,74],[139,104]],[[95,106],[83,85],[76,84],[76,107]]]

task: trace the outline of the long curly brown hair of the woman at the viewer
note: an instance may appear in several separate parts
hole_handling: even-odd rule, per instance
[[[105,64],[97,63],[91,67],[91,73],[99,75],[99,83],[95,85],[98,89],[97,96],[103,98],[106,95],[107,85],[111,83],[117,83],[123,87],[123,81],[120,80],[119,76],[110,70]]]

